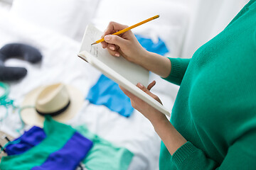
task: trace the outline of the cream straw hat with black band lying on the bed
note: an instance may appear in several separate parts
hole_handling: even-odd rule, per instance
[[[66,84],[40,86],[29,92],[21,107],[21,118],[28,125],[43,127],[44,115],[65,123],[82,107],[83,96],[78,89]],[[32,107],[31,107],[32,106]]]

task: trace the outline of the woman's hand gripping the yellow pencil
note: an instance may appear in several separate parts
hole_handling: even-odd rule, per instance
[[[105,39],[105,41],[101,42],[102,47],[107,48],[112,56],[119,57],[122,55],[129,62],[142,65],[148,52],[139,44],[132,30],[120,35],[112,35],[127,27],[119,23],[110,22],[102,35],[102,38]]]

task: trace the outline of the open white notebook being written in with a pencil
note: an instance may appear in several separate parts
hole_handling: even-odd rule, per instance
[[[102,48],[100,43],[91,45],[96,40],[99,40],[102,34],[94,26],[88,25],[82,39],[82,46],[78,57],[90,63],[96,69],[99,69],[102,74],[105,74],[105,76],[123,86],[135,96],[149,103],[150,106],[170,116],[169,111],[164,106],[136,86],[139,82],[147,86],[149,83],[148,70],[125,60],[122,56],[113,57],[106,49]]]

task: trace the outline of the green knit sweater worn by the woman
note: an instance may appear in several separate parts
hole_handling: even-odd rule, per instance
[[[188,142],[173,156],[162,143],[160,170],[256,169],[255,1],[191,59],[170,58],[171,123]]]

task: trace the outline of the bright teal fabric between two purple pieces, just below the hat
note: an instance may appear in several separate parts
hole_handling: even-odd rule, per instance
[[[34,166],[40,166],[46,162],[51,153],[61,149],[75,133],[75,130],[69,125],[58,123],[50,116],[46,117],[43,130],[46,132],[45,140],[23,154],[2,157],[0,169],[28,170]]]

